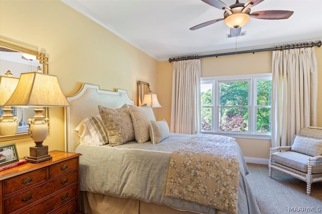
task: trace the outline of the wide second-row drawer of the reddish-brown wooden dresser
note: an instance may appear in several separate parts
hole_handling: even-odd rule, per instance
[[[78,171],[58,177],[51,182],[47,182],[41,186],[28,189],[20,194],[5,199],[5,213],[11,213],[21,207],[24,207],[32,202],[35,202],[43,197],[58,191],[70,184],[78,181]]]

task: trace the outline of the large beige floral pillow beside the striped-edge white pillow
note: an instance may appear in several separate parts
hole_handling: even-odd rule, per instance
[[[126,104],[121,108],[111,109],[99,105],[110,146],[122,145],[134,140],[134,131],[129,109]]]

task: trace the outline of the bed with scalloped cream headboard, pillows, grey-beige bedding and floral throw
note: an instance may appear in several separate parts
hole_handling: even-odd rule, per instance
[[[84,213],[260,213],[246,179],[247,165],[233,138],[169,133],[165,120],[155,121],[150,107],[134,106],[121,89],[105,91],[83,84],[67,100],[66,150],[82,154],[79,185]],[[127,111],[132,122],[120,116]],[[117,113],[122,126],[106,126],[111,112]],[[153,118],[147,141],[142,117]],[[134,133],[120,138],[115,132],[121,129]]]

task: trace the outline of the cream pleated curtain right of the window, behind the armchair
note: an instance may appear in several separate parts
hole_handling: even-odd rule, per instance
[[[317,63],[312,48],[273,51],[272,146],[289,146],[295,134],[316,126]]]

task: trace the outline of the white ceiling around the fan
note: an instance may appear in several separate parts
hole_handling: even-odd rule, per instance
[[[255,50],[322,39],[322,0],[266,0],[251,13],[288,10],[286,20],[251,19],[246,36],[226,38],[224,22],[189,28],[223,18],[222,10],[200,0],[61,0],[158,61],[185,55]],[[222,0],[230,6],[235,0]],[[245,3],[241,0],[240,3]]]

